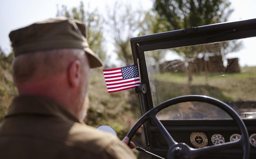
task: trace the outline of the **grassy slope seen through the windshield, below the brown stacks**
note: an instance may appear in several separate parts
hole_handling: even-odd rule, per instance
[[[151,74],[159,101],[181,95],[208,95],[223,101],[255,100],[256,67],[242,67],[241,73],[193,74],[188,84],[185,73]]]

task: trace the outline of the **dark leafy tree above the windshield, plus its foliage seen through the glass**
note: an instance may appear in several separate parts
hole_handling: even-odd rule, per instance
[[[226,22],[233,12],[228,0],[155,0],[154,9],[158,12],[158,20],[162,21],[169,31]],[[185,59],[206,52],[225,56],[239,50],[241,46],[242,43],[231,41],[219,43],[215,49],[206,48],[205,52],[197,46],[179,48],[176,52]]]

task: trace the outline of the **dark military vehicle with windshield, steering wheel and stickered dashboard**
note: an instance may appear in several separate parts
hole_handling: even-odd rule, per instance
[[[131,38],[152,158],[256,158],[256,19]],[[140,151],[147,152],[141,148]]]

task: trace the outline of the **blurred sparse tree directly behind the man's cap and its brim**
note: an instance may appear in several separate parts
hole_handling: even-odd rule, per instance
[[[80,20],[86,24],[87,28],[87,41],[91,50],[95,52],[104,63],[107,61],[106,50],[104,49],[103,37],[103,20],[98,13],[97,9],[89,11],[90,5],[87,5],[85,10],[84,3],[81,1],[79,7],[74,7],[71,10],[67,6],[62,5],[62,9],[57,11],[57,16],[65,16]]]

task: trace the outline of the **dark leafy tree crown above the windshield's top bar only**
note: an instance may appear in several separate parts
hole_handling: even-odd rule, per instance
[[[167,29],[226,22],[233,12],[227,0],[155,0],[154,9],[160,20],[167,22]]]

